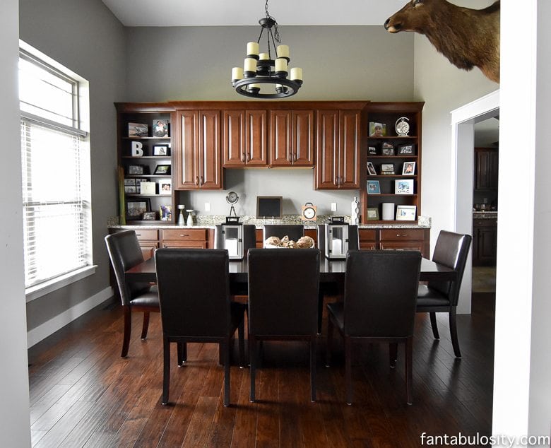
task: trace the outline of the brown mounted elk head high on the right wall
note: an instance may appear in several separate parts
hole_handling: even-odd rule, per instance
[[[410,0],[386,19],[389,33],[424,34],[459,69],[478,67],[499,83],[499,0],[485,9],[456,6],[446,0]]]

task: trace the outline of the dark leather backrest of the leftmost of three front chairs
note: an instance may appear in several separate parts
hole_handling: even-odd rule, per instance
[[[230,328],[230,281],[225,249],[157,249],[162,332],[224,336]]]

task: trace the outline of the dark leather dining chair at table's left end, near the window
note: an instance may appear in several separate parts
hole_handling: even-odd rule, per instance
[[[155,285],[129,283],[124,276],[124,271],[143,262],[140,243],[134,230],[124,230],[107,235],[105,244],[124,308],[124,335],[121,352],[121,356],[124,358],[128,355],[130,345],[132,312],[143,312],[141,338],[145,339],[148,335],[149,313],[159,311],[159,296]]]

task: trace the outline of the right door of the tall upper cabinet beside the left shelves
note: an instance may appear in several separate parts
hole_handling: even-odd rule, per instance
[[[199,188],[222,189],[220,111],[200,111],[199,119]]]

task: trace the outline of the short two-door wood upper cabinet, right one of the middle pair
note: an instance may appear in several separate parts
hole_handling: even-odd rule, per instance
[[[270,165],[314,166],[314,110],[270,111]]]

